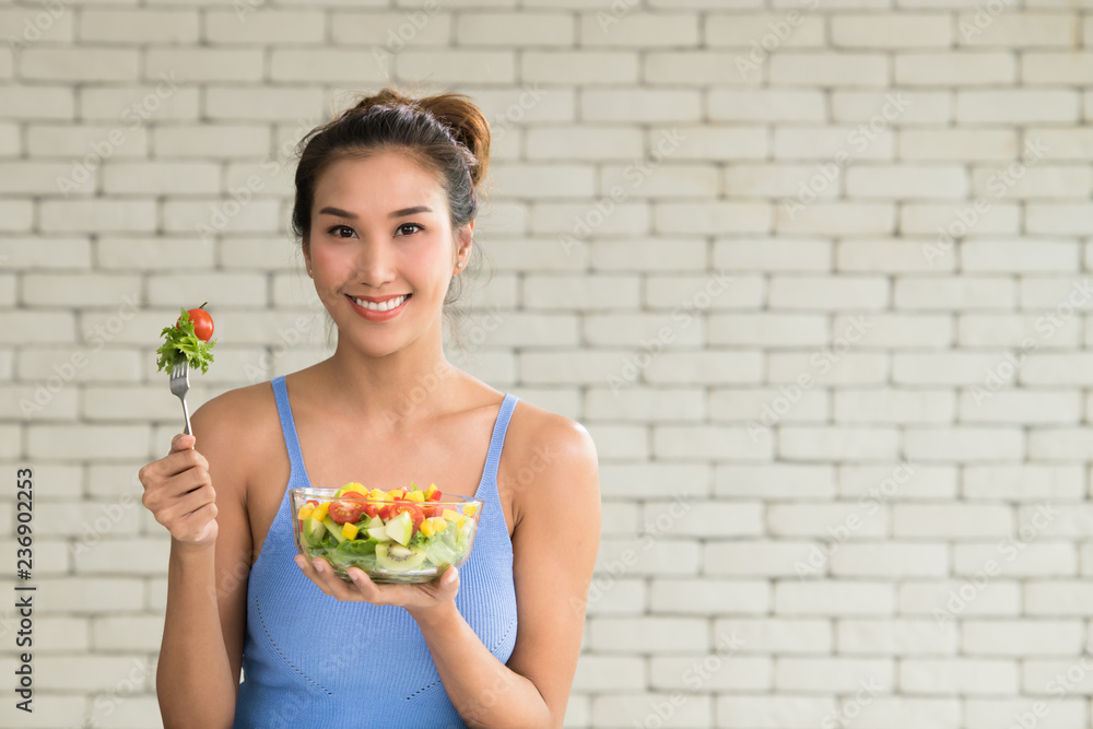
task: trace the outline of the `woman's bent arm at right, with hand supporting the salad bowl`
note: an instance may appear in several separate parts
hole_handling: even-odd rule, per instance
[[[349,585],[325,561],[297,556],[301,569],[339,600],[399,604],[418,621],[456,710],[472,727],[561,727],[577,667],[585,603],[600,536],[596,446],[580,425],[552,415],[536,427],[546,468],[521,483],[514,498],[513,578],[516,647],[502,663],[463,620],[453,599],[458,575],[449,568],[425,585],[376,585],[356,568]],[[531,448],[529,447],[530,451]],[[518,456],[529,462],[531,454]],[[565,558],[557,525],[566,525]],[[321,572],[316,572],[315,565]]]

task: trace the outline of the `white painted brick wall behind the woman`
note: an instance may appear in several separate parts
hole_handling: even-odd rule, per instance
[[[1093,648],[1093,5],[422,7],[0,0],[0,463],[51,515],[43,693],[0,726],[161,726],[156,334],[216,311],[191,408],[325,356],[268,163],[392,78],[494,128],[503,322],[451,358],[597,440],[566,726],[1093,727],[1088,670],[1049,691]]]

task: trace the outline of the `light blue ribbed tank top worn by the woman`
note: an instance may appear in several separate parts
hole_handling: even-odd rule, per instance
[[[313,484],[304,470],[284,376],[271,384],[292,471],[247,581],[235,729],[466,727],[410,613],[392,605],[336,600],[293,562],[297,550],[289,489]],[[485,504],[470,557],[459,568],[456,595],[460,614],[502,663],[516,645],[516,590],[513,544],[497,496],[497,463],[518,399],[505,395],[493,427],[475,493]],[[434,480],[443,490],[444,474]],[[366,473],[360,481],[372,487]]]

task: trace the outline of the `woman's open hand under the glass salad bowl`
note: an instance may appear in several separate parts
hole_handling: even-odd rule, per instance
[[[371,602],[376,605],[398,605],[406,608],[411,615],[415,612],[427,612],[455,600],[459,591],[459,573],[455,567],[448,567],[439,576],[428,583],[416,584],[376,584],[363,569],[350,567],[346,572],[353,578],[346,583],[334,574],[330,563],[322,557],[314,561],[296,555],[296,564],[301,571],[319,589],[332,598],[352,602]],[[416,615],[414,615],[416,616]]]

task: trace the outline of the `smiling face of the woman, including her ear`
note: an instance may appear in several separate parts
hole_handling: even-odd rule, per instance
[[[380,356],[434,328],[439,337],[444,296],[473,227],[459,231],[457,247],[436,176],[402,154],[331,163],[315,186],[303,249],[339,339]]]

